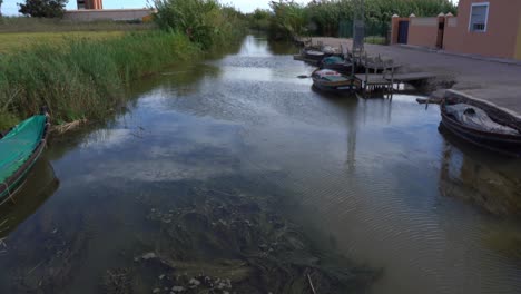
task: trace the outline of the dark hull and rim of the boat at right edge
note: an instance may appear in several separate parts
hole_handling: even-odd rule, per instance
[[[458,137],[472,143],[479,147],[500,153],[503,155],[509,155],[509,156],[515,156],[520,157],[521,156],[521,135],[508,135],[508,134],[500,134],[500,133],[491,133],[491,131],[485,131],[485,130],[480,130],[475,128],[471,128],[468,126],[462,125],[458,120],[453,119],[451,116],[446,114],[445,109],[445,104],[449,102],[451,104],[451,100],[446,100],[442,102],[441,105],[441,125],[456,135]],[[517,120],[515,118],[508,119],[510,114],[503,112],[499,109],[488,109],[486,105],[483,105],[481,102],[472,101],[472,100],[462,100],[460,99],[453,99],[452,102],[466,102],[470,105],[473,105],[475,107],[480,107],[481,109],[485,110],[489,116],[495,120],[499,124],[510,126],[515,129],[520,129],[520,126],[518,126],[514,121]],[[493,111],[493,114],[491,114]],[[498,117],[502,117],[502,119],[499,119]],[[507,118],[507,119],[505,119]],[[512,122],[505,122],[505,121],[512,121]]]

